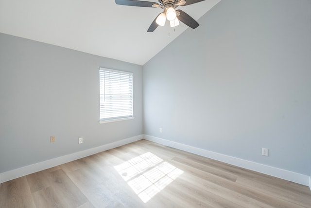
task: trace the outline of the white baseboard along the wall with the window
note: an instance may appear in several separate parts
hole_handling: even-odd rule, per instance
[[[96,153],[101,152],[101,151],[109,150],[109,149],[116,148],[116,147],[131,143],[131,142],[135,142],[135,141],[138,141],[142,138],[143,138],[143,135],[141,134],[138,136],[133,136],[130,138],[122,139],[120,141],[105,144],[105,145],[102,145],[99,147],[91,148],[91,149],[84,150],[84,151],[78,151],[78,152],[75,152],[72,154],[67,154],[67,155],[64,155],[61,157],[53,158],[51,160],[46,160],[46,161],[42,161],[39,163],[35,163],[35,164],[25,166],[22,168],[18,168],[15,170],[9,170],[6,172],[1,172],[0,173],[0,183],[3,183],[5,181],[9,181],[9,180],[12,180],[12,179],[24,176],[24,175],[28,175],[28,174],[31,174],[31,173],[34,173],[34,172],[37,172],[40,170],[45,170],[48,168],[52,168],[54,166],[58,166],[58,165],[61,165],[64,163],[68,163],[70,161],[77,160],[77,159],[80,159],[80,158],[83,158],[83,157],[86,157],[86,156],[89,156],[92,154],[96,154]]]

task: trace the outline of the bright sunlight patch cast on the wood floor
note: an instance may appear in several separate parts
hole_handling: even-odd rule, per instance
[[[144,203],[183,173],[182,170],[151,152],[130,159],[114,168]]]

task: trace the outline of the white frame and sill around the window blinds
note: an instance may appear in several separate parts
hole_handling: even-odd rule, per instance
[[[130,84],[131,84],[131,98],[132,98],[132,100],[131,100],[131,106],[132,106],[132,113],[131,113],[131,115],[124,115],[124,117],[123,116],[120,116],[120,117],[106,117],[106,118],[101,118],[101,115],[102,115],[102,96],[104,95],[104,94],[101,94],[102,93],[102,88],[104,88],[104,86],[102,86],[103,85],[103,83],[102,83],[102,77],[101,77],[101,71],[103,71],[103,72],[112,72],[112,73],[120,73],[120,74],[123,74],[123,75],[129,75],[129,76],[131,76],[131,82],[130,82]],[[134,90],[133,90],[133,88],[134,88],[134,75],[133,75],[134,73],[133,72],[127,72],[127,71],[121,71],[121,70],[114,70],[114,69],[108,69],[108,68],[104,68],[104,67],[100,67],[100,69],[99,69],[99,90],[100,90],[100,92],[99,92],[99,98],[100,98],[100,100],[99,100],[99,108],[100,108],[100,110],[99,110],[99,113],[100,113],[100,119],[99,119],[99,123],[100,124],[102,124],[102,123],[109,123],[109,122],[116,122],[116,121],[122,121],[122,120],[129,120],[129,119],[134,119],[135,118],[135,116],[134,116]],[[121,76],[121,75],[120,75]]]

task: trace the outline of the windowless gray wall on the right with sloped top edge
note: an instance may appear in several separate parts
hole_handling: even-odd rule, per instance
[[[222,0],[199,23],[143,66],[144,133],[311,175],[311,0]]]

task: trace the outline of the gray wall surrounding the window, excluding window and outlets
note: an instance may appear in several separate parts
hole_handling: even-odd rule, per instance
[[[135,119],[99,124],[99,67],[134,73]],[[140,134],[142,66],[0,34],[0,172]]]

